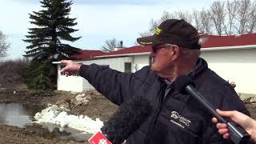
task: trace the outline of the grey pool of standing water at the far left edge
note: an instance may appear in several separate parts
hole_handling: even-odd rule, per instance
[[[0,123],[9,126],[31,125],[31,118],[25,107],[18,103],[0,104]]]

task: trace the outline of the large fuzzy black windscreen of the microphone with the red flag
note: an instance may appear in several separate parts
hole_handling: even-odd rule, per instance
[[[141,126],[150,116],[153,106],[150,100],[142,97],[133,97],[119,106],[118,111],[104,122],[102,134],[114,144],[120,144]]]

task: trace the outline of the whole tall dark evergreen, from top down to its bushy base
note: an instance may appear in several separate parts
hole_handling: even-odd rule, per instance
[[[81,37],[74,38],[70,34],[77,25],[76,18],[69,18],[72,1],[42,0],[42,10],[30,14],[30,23],[34,28],[29,29],[24,42],[27,58],[32,58],[30,66],[26,69],[26,85],[30,89],[54,89],[57,82],[57,70],[51,62],[70,59],[73,54],[78,54],[79,49],[61,41],[74,42]],[[39,86],[40,85],[40,86]]]

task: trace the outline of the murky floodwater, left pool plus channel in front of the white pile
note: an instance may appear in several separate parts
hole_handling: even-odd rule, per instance
[[[54,124],[38,125],[33,123],[34,114],[41,110],[42,107],[37,105],[24,106],[18,103],[0,103],[0,124],[26,127],[36,131],[43,138],[49,139],[87,141],[93,135]]]

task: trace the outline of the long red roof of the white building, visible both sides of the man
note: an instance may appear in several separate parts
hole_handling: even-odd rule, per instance
[[[206,42],[202,44],[202,49],[210,47],[256,45],[256,34],[242,34],[239,36],[202,35],[201,38],[205,38],[206,40]],[[78,58],[90,60],[93,59],[94,56],[103,56],[104,58],[111,56],[120,57],[126,54],[146,53],[150,52],[150,50],[151,46],[132,46],[110,53],[104,53],[100,50],[82,50],[82,54],[78,55]]]

